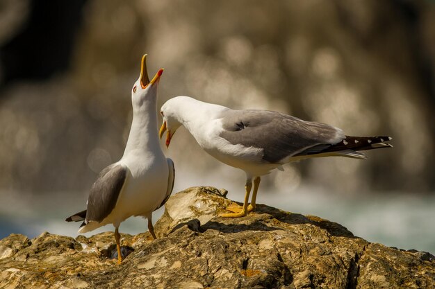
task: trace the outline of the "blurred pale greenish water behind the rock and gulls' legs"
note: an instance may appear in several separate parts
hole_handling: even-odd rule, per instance
[[[240,175],[239,183],[231,182],[222,186],[222,179],[215,179],[213,175],[197,179],[197,176],[190,173],[179,173],[174,192],[189,186],[224,187],[229,191],[228,198],[241,202],[244,183],[243,175]],[[43,231],[75,237],[79,223],[67,223],[64,220],[84,208],[85,197],[86,194],[74,192],[58,193],[49,200],[38,200],[37,196],[25,200],[14,198],[13,195],[1,197],[0,238],[11,233],[33,238]],[[338,222],[355,236],[370,242],[435,253],[434,196],[403,192],[361,192],[358,195],[343,196],[303,184],[293,190],[263,188],[259,191],[257,200],[260,204]],[[163,210],[161,208],[154,212],[154,222],[161,217]],[[147,222],[142,218],[129,218],[120,227],[122,233],[128,234],[146,230]],[[113,231],[113,226],[107,225],[85,236],[101,231]]]

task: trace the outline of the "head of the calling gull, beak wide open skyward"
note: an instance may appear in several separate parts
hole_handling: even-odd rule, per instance
[[[152,80],[148,78],[147,71],[147,55],[142,56],[142,61],[140,62],[140,76],[136,80],[133,88],[131,89],[131,101],[133,102],[133,107],[142,107],[142,104],[146,100],[156,100],[157,98],[157,87],[160,77],[163,73],[163,69],[158,69],[156,75]]]

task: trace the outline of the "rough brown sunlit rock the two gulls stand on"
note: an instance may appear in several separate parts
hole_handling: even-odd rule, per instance
[[[0,288],[434,288],[429,253],[369,243],[345,227],[265,205],[217,216],[231,200],[195,187],[173,195],[149,232],[90,238],[44,233],[0,240]],[[431,257],[432,256],[432,257]],[[109,258],[108,258],[109,257]]]

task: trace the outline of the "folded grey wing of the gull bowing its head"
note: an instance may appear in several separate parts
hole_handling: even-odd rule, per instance
[[[232,144],[262,148],[263,160],[270,163],[345,138],[343,131],[332,125],[267,110],[227,110],[222,113],[222,125],[221,137]]]

